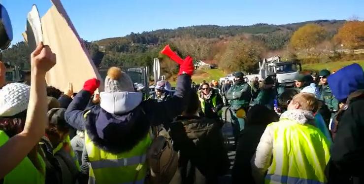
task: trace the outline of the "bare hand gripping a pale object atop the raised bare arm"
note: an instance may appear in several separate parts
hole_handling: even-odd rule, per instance
[[[56,54],[48,45],[40,42],[31,54],[32,72],[45,75],[54,65],[56,65]]]

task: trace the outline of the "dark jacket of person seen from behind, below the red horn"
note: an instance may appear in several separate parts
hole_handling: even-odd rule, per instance
[[[179,116],[169,135],[179,151],[178,170],[170,184],[214,184],[230,163],[219,121]]]

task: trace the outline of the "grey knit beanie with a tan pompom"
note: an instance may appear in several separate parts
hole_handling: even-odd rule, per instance
[[[134,91],[132,79],[128,74],[122,72],[120,68],[111,67],[107,71],[105,78],[105,92],[121,92],[121,91]]]

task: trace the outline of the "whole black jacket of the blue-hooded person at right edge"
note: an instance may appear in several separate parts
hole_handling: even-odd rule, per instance
[[[364,91],[348,99],[331,147],[329,184],[364,184]]]

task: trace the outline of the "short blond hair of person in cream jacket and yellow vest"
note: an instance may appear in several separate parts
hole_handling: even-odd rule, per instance
[[[292,101],[299,104],[299,109],[309,110],[311,112],[316,112],[322,105],[321,102],[317,100],[314,94],[305,92],[295,95]]]

